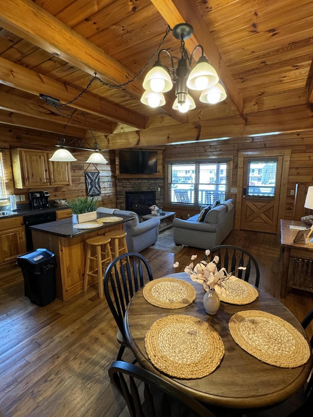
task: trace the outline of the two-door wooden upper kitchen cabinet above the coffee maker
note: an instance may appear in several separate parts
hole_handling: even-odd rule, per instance
[[[15,188],[71,184],[69,162],[51,162],[46,151],[16,148],[11,154]]]

